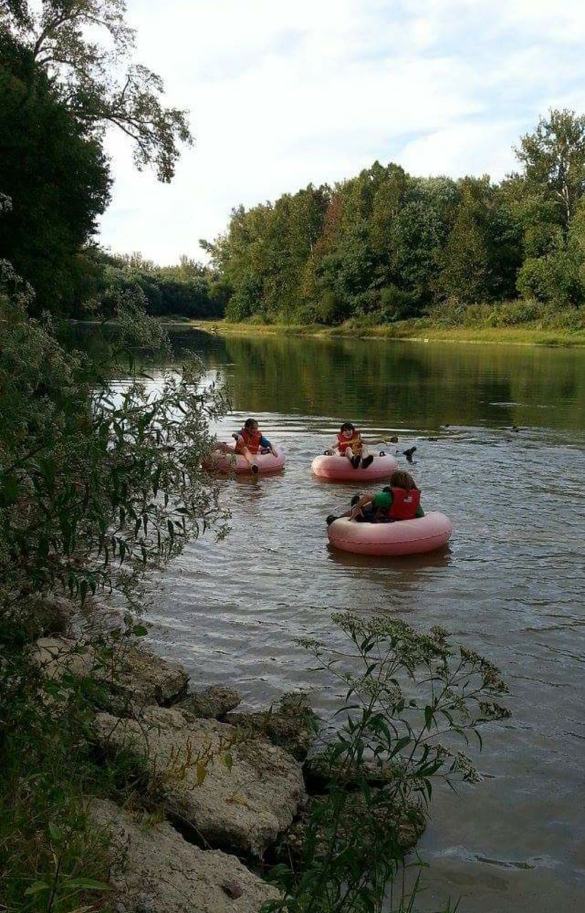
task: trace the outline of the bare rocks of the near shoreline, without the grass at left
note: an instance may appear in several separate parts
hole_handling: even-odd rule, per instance
[[[299,851],[309,793],[325,789],[319,756],[306,761],[317,730],[308,698],[237,710],[233,687],[192,691],[186,669],[142,638],[72,635],[71,604],[55,601],[53,616],[47,604],[42,636],[27,647],[43,699],[50,706],[56,688],[87,681],[92,750],[123,763],[134,784],[122,804],[101,796],[88,806],[110,836],[112,909],[255,913],[277,898],[258,874],[263,861],[277,858],[277,844],[288,856]],[[422,829],[404,825],[405,849]]]

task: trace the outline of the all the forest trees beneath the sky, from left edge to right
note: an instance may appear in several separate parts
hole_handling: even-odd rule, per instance
[[[520,138],[518,170],[500,183],[375,162],[339,184],[237,206],[225,234],[200,242],[208,263],[157,266],[96,243],[110,201],[104,131],[131,131],[137,165],[169,181],[191,142],[184,112],[162,107],[145,68],[112,89],[105,59],[95,47],[68,49],[62,27],[52,42],[50,32],[27,40],[26,15],[12,6],[0,28],[0,257],[35,290],[33,313],[115,317],[130,296],[163,319],[581,326],[584,116],[550,110]],[[128,40],[126,26],[110,27]],[[68,53],[64,79],[51,61]]]

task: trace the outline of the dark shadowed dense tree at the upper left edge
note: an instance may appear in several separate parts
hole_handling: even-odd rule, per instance
[[[0,256],[37,289],[34,306],[68,310],[83,284],[80,248],[110,199],[101,145],[26,50],[0,29]]]

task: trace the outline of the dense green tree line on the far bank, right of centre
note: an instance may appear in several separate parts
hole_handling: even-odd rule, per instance
[[[450,304],[585,300],[585,117],[550,110],[516,150],[519,169],[415,177],[373,163],[329,186],[235,208],[202,241],[229,320],[386,322]]]

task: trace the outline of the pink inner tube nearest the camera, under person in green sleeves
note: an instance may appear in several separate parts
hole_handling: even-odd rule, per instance
[[[453,523],[438,510],[395,523],[356,523],[341,517],[331,523],[329,541],[336,549],[361,555],[420,555],[445,545]]]

